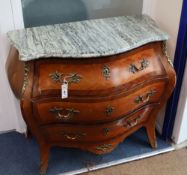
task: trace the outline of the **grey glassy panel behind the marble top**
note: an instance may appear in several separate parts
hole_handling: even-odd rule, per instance
[[[141,14],[143,0],[22,0],[25,27]]]

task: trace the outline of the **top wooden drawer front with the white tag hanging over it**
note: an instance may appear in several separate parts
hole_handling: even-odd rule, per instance
[[[97,96],[128,90],[150,77],[165,75],[157,53],[150,46],[97,59],[36,61],[33,96],[59,95],[63,81],[69,96]],[[134,82],[134,83],[133,83]]]

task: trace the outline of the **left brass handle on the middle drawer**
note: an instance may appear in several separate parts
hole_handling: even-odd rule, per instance
[[[55,114],[56,118],[59,120],[69,119],[71,117],[74,117],[76,114],[80,113],[80,111],[75,110],[73,108],[63,109],[63,108],[57,108],[57,107],[53,107],[49,109],[49,112]],[[67,113],[67,114],[62,114],[62,113]]]

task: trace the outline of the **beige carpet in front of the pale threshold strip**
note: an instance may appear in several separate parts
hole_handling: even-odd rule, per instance
[[[187,149],[105,168],[84,175],[187,175]]]

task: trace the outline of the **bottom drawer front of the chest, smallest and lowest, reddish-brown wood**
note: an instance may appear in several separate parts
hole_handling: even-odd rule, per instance
[[[152,106],[143,108],[132,115],[115,122],[100,125],[51,125],[42,127],[47,141],[50,142],[94,142],[117,137],[138,125],[143,125],[152,111]]]

